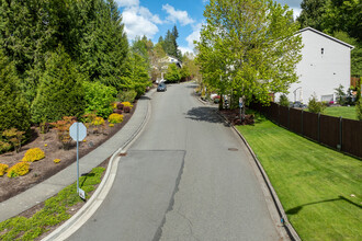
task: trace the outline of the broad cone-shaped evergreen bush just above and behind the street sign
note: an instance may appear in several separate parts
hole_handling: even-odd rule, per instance
[[[83,76],[78,72],[63,47],[58,47],[46,61],[32,104],[34,123],[56,122],[63,116],[80,117],[84,113]]]

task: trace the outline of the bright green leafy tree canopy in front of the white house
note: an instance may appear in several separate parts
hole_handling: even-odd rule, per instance
[[[269,103],[297,81],[298,24],[286,5],[271,0],[211,0],[196,43],[203,81],[220,94]]]

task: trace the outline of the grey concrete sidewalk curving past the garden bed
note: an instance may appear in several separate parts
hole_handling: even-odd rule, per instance
[[[100,147],[79,159],[79,173],[88,173],[114,152],[126,146],[140,130],[149,112],[148,103],[155,90],[138,100],[137,108],[127,124]],[[77,181],[77,162],[25,192],[0,203],[0,222],[46,200]]]

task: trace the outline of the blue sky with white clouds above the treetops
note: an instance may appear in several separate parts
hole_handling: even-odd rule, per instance
[[[204,9],[207,0],[115,0],[120,7],[128,39],[146,35],[154,43],[165,36],[168,30],[177,25],[180,49],[192,51],[193,41],[199,39],[204,22]],[[276,0],[301,12],[302,0]]]

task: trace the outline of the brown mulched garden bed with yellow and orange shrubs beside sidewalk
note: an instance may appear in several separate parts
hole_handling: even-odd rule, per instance
[[[127,112],[129,111],[129,113],[123,113],[122,123],[114,124],[109,123],[109,120],[98,119],[100,123],[97,124],[100,125],[89,124],[87,138],[79,142],[80,157],[86,156],[117,133],[131,118],[134,110],[135,107],[129,107],[129,110],[126,110]],[[15,196],[48,179],[76,161],[76,141],[70,139],[59,141],[59,131],[55,128],[49,129],[49,131],[45,134],[42,133],[44,131],[41,131],[39,127],[32,127],[31,140],[24,145],[19,152],[10,151],[0,154],[0,163],[8,165],[9,171],[14,164],[21,163],[20,160],[24,160],[26,151],[38,148],[44,152],[44,158],[41,160],[26,161],[30,168],[29,172],[24,173],[24,175],[8,176],[9,173],[3,173],[3,175],[0,176],[0,202]],[[66,138],[69,137],[67,136]],[[66,146],[65,141],[67,142]],[[110,153],[110,156],[111,154],[112,153]]]

